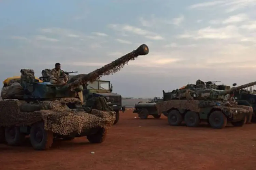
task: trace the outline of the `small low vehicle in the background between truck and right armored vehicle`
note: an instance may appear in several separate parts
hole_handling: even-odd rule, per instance
[[[140,119],[147,119],[148,115],[159,119],[161,114],[158,114],[155,104],[160,101],[162,101],[162,99],[154,97],[150,102],[138,102],[134,105],[133,113],[137,113]]]

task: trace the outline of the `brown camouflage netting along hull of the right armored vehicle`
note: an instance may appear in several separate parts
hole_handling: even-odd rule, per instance
[[[167,100],[155,104],[158,113],[168,111],[171,108],[188,109],[193,112],[200,112],[203,107],[220,108],[224,112],[232,115],[239,113],[250,113],[252,107],[237,105],[232,101],[214,101],[214,100]]]

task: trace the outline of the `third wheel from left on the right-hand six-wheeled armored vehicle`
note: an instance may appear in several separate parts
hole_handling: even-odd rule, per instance
[[[214,111],[209,116],[209,123],[212,128],[222,129],[227,125],[227,118],[221,111]]]

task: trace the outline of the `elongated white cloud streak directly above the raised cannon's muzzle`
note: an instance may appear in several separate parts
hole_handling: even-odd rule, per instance
[[[161,35],[158,35],[154,32],[147,31],[138,27],[130,26],[128,24],[109,24],[109,28],[116,30],[116,31],[123,31],[125,33],[133,33],[137,35],[144,36],[145,38],[152,39],[152,40],[162,40],[164,39]]]

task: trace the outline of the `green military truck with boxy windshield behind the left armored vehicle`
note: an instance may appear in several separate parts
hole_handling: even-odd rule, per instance
[[[113,93],[113,85],[110,81],[96,80],[93,83],[88,83],[87,88],[84,88],[84,100],[89,100],[93,97],[105,97],[108,101],[108,105],[116,113],[116,119],[114,124],[119,120],[119,111],[125,112],[125,106],[122,106],[122,96]]]

